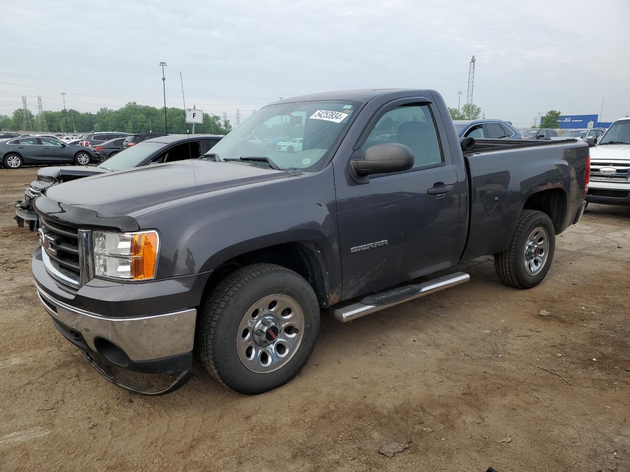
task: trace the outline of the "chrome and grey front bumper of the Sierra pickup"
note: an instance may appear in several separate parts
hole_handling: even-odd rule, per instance
[[[41,246],[32,270],[45,310],[74,346],[136,372],[190,369],[198,305],[190,293],[203,282],[198,275],[132,286],[93,279],[75,289],[47,271]]]

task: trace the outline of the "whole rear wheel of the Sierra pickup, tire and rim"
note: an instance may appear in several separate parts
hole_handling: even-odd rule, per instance
[[[496,273],[503,283],[532,288],[545,278],[556,249],[556,232],[551,218],[536,210],[523,210],[512,244],[495,254]]]

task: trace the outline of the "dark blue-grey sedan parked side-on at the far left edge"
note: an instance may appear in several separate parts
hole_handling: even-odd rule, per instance
[[[0,160],[8,169],[43,164],[77,164],[98,162],[98,151],[89,147],[63,143],[54,138],[28,136],[0,141]]]

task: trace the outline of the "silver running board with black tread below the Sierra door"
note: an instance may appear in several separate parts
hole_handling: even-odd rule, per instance
[[[352,305],[343,306],[337,308],[333,314],[335,318],[346,323],[348,321],[356,320],[357,318],[364,317],[370,313],[380,312],[389,308],[390,306],[404,303],[405,301],[413,300],[414,298],[420,298],[421,296],[435,293],[445,288],[454,287],[462,283],[466,283],[471,279],[466,273],[456,272],[444,277],[433,279],[421,284],[404,285],[402,287],[392,288],[376,295],[366,296],[363,300]]]

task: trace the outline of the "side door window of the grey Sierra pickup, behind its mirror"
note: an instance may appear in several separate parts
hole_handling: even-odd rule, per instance
[[[413,167],[444,162],[428,105],[403,105],[387,111],[372,128],[363,149],[381,143],[409,147],[413,152]]]

